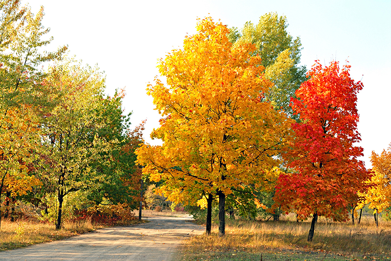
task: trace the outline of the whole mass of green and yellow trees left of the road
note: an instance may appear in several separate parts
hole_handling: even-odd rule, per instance
[[[83,207],[136,207],[143,127],[129,130],[123,92],[104,97],[97,67],[67,59],[65,46],[44,50],[53,38],[43,14],[0,1],[0,198],[6,191],[45,208],[43,219],[59,229],[78,209],[75,195]]]

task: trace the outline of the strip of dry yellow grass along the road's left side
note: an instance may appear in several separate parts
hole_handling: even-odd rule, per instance
[[[117,222],[116,225],[130,225],[138,222],[138,220]],[[60,230],[55,230],[54,224],[49,223],[38,221],[10,222],[2,220],[0,228],[0,251],[61,240],[105,226],[107,225],[91,224],[90,221],[65,222]]]

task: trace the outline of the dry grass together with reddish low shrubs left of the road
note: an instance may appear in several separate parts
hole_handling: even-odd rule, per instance
[[[133,212],[123,205],[91,207],[77,217],[68,217],[61,226],[56,229],[53,221],[40,217],[31,208],[25,207],[25,215],[19,218],[4,219],[0,228],[0,251],[11,250],[48,241],[62,240],[68,237],[80,235],[98,228],[132,225],[139,221]],[[19,209],[17,209],[19,211]]]

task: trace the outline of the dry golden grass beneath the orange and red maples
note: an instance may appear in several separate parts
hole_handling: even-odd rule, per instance
[[[211,236],[203,234],[186,241],[181,260],[261,260],[261,253],[263,261],[279,260],[278,256],[270,257],[273,253],[282,253],[281,260],[391,257],[391,222],[381,221],[376,228],[372,217],[364,217],[360,225],[320,219],[313,241],[307,242],[310,223],[293,220],[289,216],[279,222],[229,220],[224,238],[217,237],[214,226]],[[224,258],[227,253],[229,259]],[[311,258],[305,258],[308,254]]]

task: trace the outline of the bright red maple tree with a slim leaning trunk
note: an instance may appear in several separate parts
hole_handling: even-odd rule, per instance
[[[296,138],[283,156],[296,172],[279,177],[274,197],[283,211],[296,211],[299,219],[312,215],[308,241],[312,241],[318,216],[346,221],[351,203],[360,200],[370,178],[364,162],[357,158],[363,149],[357,93],[363,84],[342,70],[337,61],[323,67],[318,61],[308,73],[309,80],[296,91],[292,108],[301,123],[292,124]]]

